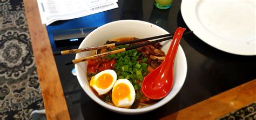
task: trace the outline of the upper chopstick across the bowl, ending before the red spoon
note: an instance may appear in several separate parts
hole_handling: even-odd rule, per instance
[[[53,55],[56,56],[56,55],[66,55],[66,54],[80,53],[80,52],[83,52],[83,51],[97,50],[97,49],[109,48],[109,47],[114,47],[114,46],[121,46],[121,45],[124,45],[124,44],[131,44],[131,43],[136,43],[136,42],[141,42],[141,41],[146,41],[146,40],[159,39],[159,38],[164,38],[166,36],[173,36],[173,34],[165,34],[165,35],[153,36],[153,37],[145,38],[145,39],[138,39],[138,40],[125,41],[125,42],[116,42],[116,43],[111,43],[111,44],[104,44],[103,46],[56,51],[56,52],[53,52]]]

